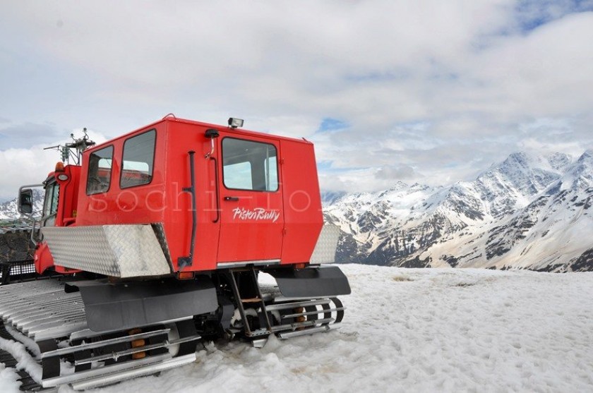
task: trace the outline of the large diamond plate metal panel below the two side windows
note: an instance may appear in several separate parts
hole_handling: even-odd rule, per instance
[[[47,226],[42,234],[56,265],[121,278],[171,272],[150,225]]]

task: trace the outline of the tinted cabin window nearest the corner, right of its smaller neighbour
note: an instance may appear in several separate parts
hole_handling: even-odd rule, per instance
[[[141,186],[152,181],[156,137],[157,131],[150,130],[124,142],[120,188]]]

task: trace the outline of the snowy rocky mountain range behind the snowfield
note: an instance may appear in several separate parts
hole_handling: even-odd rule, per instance
[[[324,198],[337,261],[402,267],[593,270],[593,151],[515,153],[474,181],[398,182]]]

